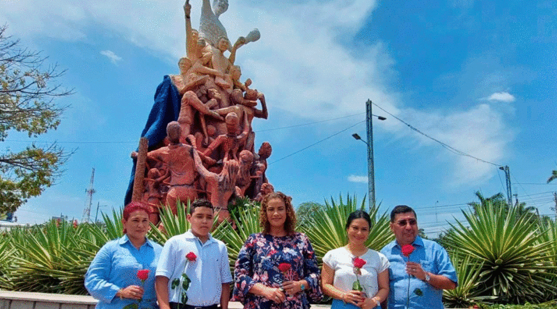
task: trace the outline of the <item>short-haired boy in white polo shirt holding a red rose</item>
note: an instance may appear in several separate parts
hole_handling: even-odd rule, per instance
[[[211,234],[213,206],[205,199],[191,204],[191,229],[171,237],[157,265],[155,290],[160,309],[228,309],[232,276],[228,251]]]

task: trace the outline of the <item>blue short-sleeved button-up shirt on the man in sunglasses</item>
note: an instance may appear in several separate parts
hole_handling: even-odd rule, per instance
[[[423,240],[419,236],[412,245],[415,249],[409,256],[410,262],[420,263],[425,272],[446,276],[450,281],[457,283],[455,267],[450,262],[447,251],[441,245],[431,240]],[[401,247],[396,240],[387,244],[381,253],[391,263],[389,266],[389,309],[405,309],[408,298],[410,309],[443,309],[441,301],[443,290],[407,274],[408,258],[402,256]]]

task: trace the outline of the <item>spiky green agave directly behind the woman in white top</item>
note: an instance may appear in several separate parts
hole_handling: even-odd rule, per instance
[[[361,204],[357,203],[355,196],[350,197],[350,195],[347,195],[346,203],[343,203],[342,196],[339,196],[338,203],[331,198],[330,203],[325,201],[324,208],[315,213],[314,220],[304,226],[303,231],[310,238],[319,262],[321,262],[327,251],[343,247],[346,244],[345,226],[348,216],[355,210],[363,210],[364,205],[365,198]],[[369,214],[372,226],[370,227],[370,235],[366,241],[366,246],[379,251],[384,245],[393,240],[394,236],[389,229],[389,218],[386,213],[379,215],[378,207],[373,205],[370,208]]]

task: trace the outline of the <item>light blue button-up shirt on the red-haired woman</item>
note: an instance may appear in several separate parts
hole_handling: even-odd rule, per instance
[[[120,299],[118,290],[129,285],[141,286],[137,271],[149,269],[149,278],[143,284],[143,299],[139,308],[159,308],[155,295],[155,272],[162,246],[147,240],[139,249],[134,247],[127,235],[104,244],[89,265],[85,275],[85,287],[92,297],[99,300],[97,309],[122,309],[133,299]]]

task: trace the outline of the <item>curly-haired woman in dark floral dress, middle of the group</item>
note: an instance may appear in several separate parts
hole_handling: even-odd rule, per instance
[[[250,235],[238,254],[233,299],[244,309],[308,309],[308,297],[322,297],[320,272],[308,237],[294,231],[290,197],[267,194],[260,224],[262,233]]]

